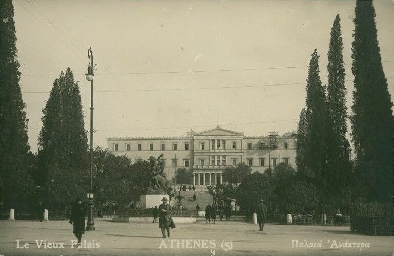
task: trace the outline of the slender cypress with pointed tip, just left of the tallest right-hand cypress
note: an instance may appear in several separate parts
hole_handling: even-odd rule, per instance
[[[350,144],[346,139],[346,88],[342,50],[341,25],[337,15],[331,29],[327,65],[327,185],[329,194],[338,198],[350,196],[350,193],[339,193],[352,180]]]

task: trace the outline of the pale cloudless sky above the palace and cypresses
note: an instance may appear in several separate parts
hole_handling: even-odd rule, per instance
[[[54,80],[67,67],[79,81],[89,131],[91,92],[84,77],[89,47],[97,68],[94,146],[106,148],[107,137],[183,136],[191,129],[200,132],[217,125],[245,135],[295,131],[314,49],[320,55],[321,80],[327,84],[327,52],[337,14],[351,113],[355,1],[13,4],[33,152],[42,109]],[[375,1],[374,7],[383,69],[393,95],[394,3]]]

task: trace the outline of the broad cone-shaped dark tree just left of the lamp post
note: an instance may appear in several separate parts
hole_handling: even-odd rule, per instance
[[[39,183],[47,189],[52,203],[63,205],[73,201],[72,193],[66,191],[74,190],[74,185],[79,188],[74,190],[74,196],[76,192],[85,195],[88,178],[88,140],[82,102],[70,68],[55,79],[42,122],[38,138],[38,168],[42,177]],[[70,178],[57,179],[66,176]],[[57,180],[56,188],[64,186],[61,194],[56,193],[52,180]]]

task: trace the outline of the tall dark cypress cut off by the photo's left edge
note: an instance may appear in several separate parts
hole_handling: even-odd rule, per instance
[[[19,86],[11,0],[0,1],[0,42],[0,200],[5,208],[15,208],[35,202],[30,197],[34,181],[28,173],[34,157],[29,153],[26,105]]]

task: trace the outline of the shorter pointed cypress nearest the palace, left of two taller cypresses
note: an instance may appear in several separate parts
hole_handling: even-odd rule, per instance
[[[327,113],[325,87],[320,81],[319,72],[319,56],[315,49],[310,59],[306,80],[306,116],[308,117],[306,160],[316,184],[322,187],[327,154]]]

